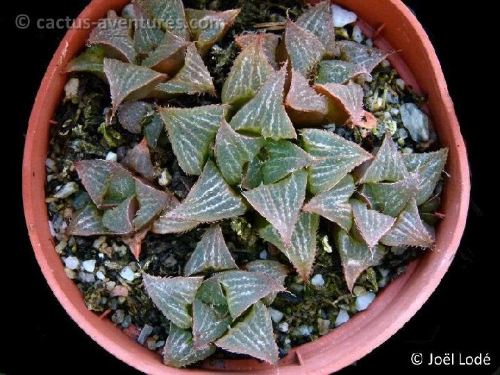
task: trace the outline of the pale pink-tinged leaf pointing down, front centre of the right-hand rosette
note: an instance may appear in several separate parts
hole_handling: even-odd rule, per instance
[[[383,215],[376,210],[370,210],[365,203],[356,201],[355,199],[351,201],[351,206],[356,228],[370,248],[378,244],[382,236],[396,222],[394,217]]]

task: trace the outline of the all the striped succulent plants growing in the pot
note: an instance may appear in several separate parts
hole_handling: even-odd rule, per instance
[[[372,155],[322,130],[332,123],[376,128],[376,118],[363,110],[359,83],[387,57],[363,44],[335,42],[329,1],[296,22],[288,19],[281,35],[236,37],[241,52],[219,105],[160,105],[179,95],[215,95],[203,56],[238,12],[184,9],[181,0],[137,1],[122,17],[109,12],[88,49],[66,68],[106,80],[110,119],[144,134],[120,163],[75,164],[92,203],[75,214],[69,233],[121,236],[138,258],[149,231],[183,233],[212,224],[182,277],[143,275],[149,296],[171,322],[164,359],[176,367],[216,347],[278,360],[265,305],[284,290],[290,269],[267,260],[239,269],[218,222],[258,217],[265,222],[260,236],[308,281],[319,221],[328,221],[350,290],[390,247],[434,242],[421,217],[437,208],[433,192],[447,149],[401,154],[387,133]],[[190,29],[203,20],[208,27]],[[199,176],[182,201],[155,185],[150,148],[163,126],[180,167]]]

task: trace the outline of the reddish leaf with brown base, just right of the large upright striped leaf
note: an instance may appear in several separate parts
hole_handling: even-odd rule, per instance
[[[293,124],[317,126],[326,122],[328,99],[310,87],[309,81],[292,69],[292,83],[285,99],[287,113]]]

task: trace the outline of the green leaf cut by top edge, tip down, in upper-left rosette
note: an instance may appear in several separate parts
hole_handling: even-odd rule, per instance
[[[185,19],[182,0],[144,0],[142,6],[162,28],[179,38],[190,40],[190,30]]]

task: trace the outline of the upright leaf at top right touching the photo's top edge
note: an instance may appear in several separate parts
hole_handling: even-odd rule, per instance
[[[335,28],[331,12],[331,1],[326,0],[303,12],[297,25],[306,28],[322,42],[329,57],[335,56]]]

